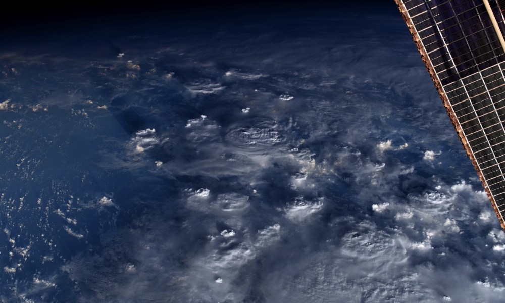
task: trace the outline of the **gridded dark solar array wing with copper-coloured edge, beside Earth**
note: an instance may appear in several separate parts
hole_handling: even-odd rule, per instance
[[[505,0],[395,0],[505,230]]]

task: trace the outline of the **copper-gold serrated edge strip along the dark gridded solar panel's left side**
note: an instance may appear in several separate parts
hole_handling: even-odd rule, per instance
[[[403,4],[402,0],[394,0],[396,5],[398,6],[398,9],[400,10],[401,16],[403,17],[403,21],[407,24],[407,27],[409,28],[409,32],[412,35],[412,39],[414,40],[414,43],[416,44],[416,47],[421,54],[421,59],[424,62],[424,65],[426,66],[426,69],[428,70],[431,80],[433,80],[433,83],[435,83],[435,88],[438,91],[438,95],[440,96],[440,99],[442,99],[442,104],[445,107],[445,110],[447,111],[447,115],[450,118],[450,122],[454,126],[456,133],[458,133],[458,137],[460,139],[461,144],[463,144],[463,148],[465,149],[465,152],[467,153],[467,156],[472,160],[472,164],[477,171],[477,175],[479,176],[480,181],[482,182],[482,186],[484,187],[484,190],[486,192],[487,197],[491,201],[491,205],[494,209],[494,212],[496,214],[496,217],[498,218],[498,221],[500,222],[501,228],[503,231],[505,231],[505,221],[503,220],[503,217],[501,216],[498,206],[496,205],[496,201],[494,200],[493,195],[491,194],[491,191],[487,187],[486,181],[484,179],[484,176],[482,172],[479,169],[479,166],[477,165],[477,160],[475,159],[472,151],[470,150],[470,145],[466,139],[466,137],[463,135],[463,130],[456,119],[456,114],[452,110],[452,107],[450,106],[449,99],[447,98],[447,95],[445,94],[442,84],[440,83],[439,79],[436,77],[435,69],[433,65],[431,64],[431,61],[428,57],[428,54],[424,51],[423,46],[421,45],[421,37],[417,33],[414,24],[412,23],[412,20],[407,14],[407,8]]]

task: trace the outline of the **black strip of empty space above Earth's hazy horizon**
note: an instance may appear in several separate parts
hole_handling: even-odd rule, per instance
[[[279,14],[367,14],[399,16],[393,0],[375,1],[73,1],[11,2],[0,13],[0,38],[79,30],[94,25],[143,22],[246,22],[247,18]]]

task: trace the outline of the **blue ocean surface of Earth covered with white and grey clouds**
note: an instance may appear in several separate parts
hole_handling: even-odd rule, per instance
[[[362,14],[5,46],[0,300],[503,301],[505,234],[405,23]]]

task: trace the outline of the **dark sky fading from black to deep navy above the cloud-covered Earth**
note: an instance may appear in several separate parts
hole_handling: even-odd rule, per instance
[[[247,28],[262,20],[296,21],[305,17],[361,18],[391,16],[401,20],[393,0],[341,1],[75,1],[64,5],[18,2],[0,18],[0,43],[5,49],[68,37],[100,39],[157,28]]]

